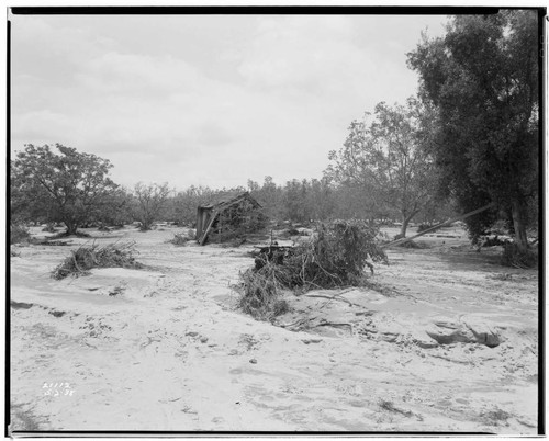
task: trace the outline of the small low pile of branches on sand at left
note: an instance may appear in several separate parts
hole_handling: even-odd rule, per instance
[[[143,268],[135,261],[135,242],[81,246],[52,271],[52,276],[61,280],[68,275],[79,276],[92,268]]]

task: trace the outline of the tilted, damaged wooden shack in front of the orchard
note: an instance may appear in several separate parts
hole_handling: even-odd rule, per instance
[[[226,195],[197,210],[197,240],[200,245],[224,242],[262,230],[267,216],[248,192]]]

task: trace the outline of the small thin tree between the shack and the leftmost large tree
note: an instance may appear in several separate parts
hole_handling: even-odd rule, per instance
[[[168,183],[144,184],[138,182],[134,188],[134,217],[141,223],[139,229],[147,231],[155,220],[164,215],[171,190]]]

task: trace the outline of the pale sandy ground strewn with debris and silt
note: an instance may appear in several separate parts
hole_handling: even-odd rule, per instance
[[[390,250],[376,290],[288,293],[273,326],[236,308],[251,246],[178,231],[90,230],[147,269],[63,281],[89,239],[16,248],[12,430],[537,433],[537,271],[448,230]]]

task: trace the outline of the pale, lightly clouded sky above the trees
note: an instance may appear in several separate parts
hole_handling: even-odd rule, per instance
[[[441,15],[10,15],[11,149],[60,143],[123,185],[321,178]]]

